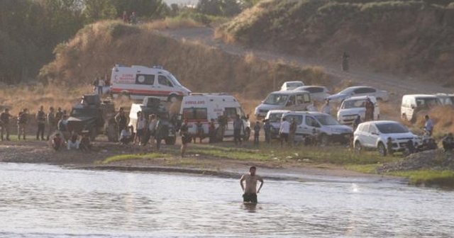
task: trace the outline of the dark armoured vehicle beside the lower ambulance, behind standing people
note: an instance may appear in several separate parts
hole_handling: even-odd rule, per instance
[[[169,112],[167,108],[162,105],[160,98],[156,97],[145,97],[143,98],[143,103],[133,103],[131,105],[131,111],[129,113],[129,125],[132,125],[134,131],[136,130],[135,125],[137,123],[137,113],[141,111],[145,116],[145,119],[148,120],[148,116],[155,114],[159,115],[161,118],[161,123],[164,125],[163,131],[167,132],[163,135],[163,140],[165,140],[166,145],[175,145],[177,140],[177,132],[175,128],[175,122],[170,120]]]

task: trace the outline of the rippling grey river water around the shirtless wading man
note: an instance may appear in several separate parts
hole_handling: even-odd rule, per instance
[[[260,172],[260,168],[259,168]],[[0,237],[452,237],[454,193],[392,182],[265,181],[0,164]]]

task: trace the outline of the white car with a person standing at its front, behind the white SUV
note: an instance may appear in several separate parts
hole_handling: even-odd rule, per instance
[[[370,101],[374,103],[374,119],[380,119],[380,108],[378,106],[377,99],[375,96],[354,96],[351,98],[345,99],[338,111],[338,121],[343,125],[353,125],[353,122],[358,117],[361,116],[361,120],[365,119],[366,113],[366,100],[370,98]]]

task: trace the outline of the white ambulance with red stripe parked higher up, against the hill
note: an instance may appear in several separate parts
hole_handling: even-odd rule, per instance
[[[127,96],[142,100],[145,96],[156,96],[162,101],[175,102],[191,91],[162,67],[145,67],[116,64],[111,74],[111,95]]]

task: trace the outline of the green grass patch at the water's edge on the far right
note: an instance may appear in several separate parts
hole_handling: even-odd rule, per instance
[[[408,178],[413,185],[454,188],[454,171],[452,170],[394,171],[387,174]]]

